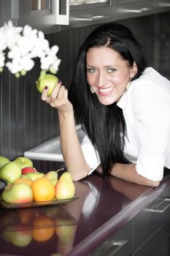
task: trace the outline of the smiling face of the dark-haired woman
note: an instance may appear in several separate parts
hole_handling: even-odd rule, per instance
[[[103,105],[118,102],[128,81],[136,74],[119,53],[104,46],[90,48],[86,54],[88,84]]]

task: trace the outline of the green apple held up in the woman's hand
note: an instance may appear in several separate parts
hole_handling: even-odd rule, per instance
[[[58,78],[55,75],[47,74],[39,77],[36,88],[40,93],[44,90],[45,86],[48,88],[47,95],[50,96],[55,84],[58,83]]]

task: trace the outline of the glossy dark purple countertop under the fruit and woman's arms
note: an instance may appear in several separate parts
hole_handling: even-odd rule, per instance
[[[157,188],[93,173],[74,182],[71,202],[33,208],[0,208],[0,255],[88,255],[170,187]]]

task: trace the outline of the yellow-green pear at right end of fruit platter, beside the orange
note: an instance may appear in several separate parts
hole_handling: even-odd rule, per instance
[[[55,185],[55,198],[57,200],[70,199],[74,197],[75,186],[72,180],[72,175],[69,172],[65,172],[58,179]]]

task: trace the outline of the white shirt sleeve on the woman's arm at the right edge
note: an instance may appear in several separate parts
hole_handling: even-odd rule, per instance
[[[137,90],[134,93],[139,143],[136,172],[152,181],[161,181],[166,155],[170,151],[170,94],[144,83]]]

